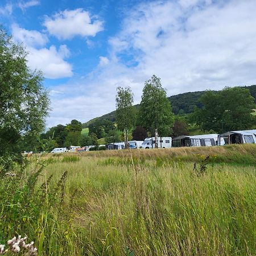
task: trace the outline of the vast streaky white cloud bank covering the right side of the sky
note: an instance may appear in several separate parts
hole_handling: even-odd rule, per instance
[[[153,74],[161,78],[168,96],[255,84],[255,11],[254,0],[155,1],[135,6],[126,13],[119,33],[109,39],[108,64],[99,64],[84,80],[55,88],[61,88],[65,97],[53,105],[49,123],[56,117],[62,123],[73,118],[84,122],[113,111],[117,86],[130,86],[137,104],[144,81]],[[63,98],[69,100],[68,121],[61,119]]]

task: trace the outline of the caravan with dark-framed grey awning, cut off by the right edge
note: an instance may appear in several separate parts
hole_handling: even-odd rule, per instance
[[[256,143],[256,130],[228,131],[218,135],[218,146],[243,143]]]

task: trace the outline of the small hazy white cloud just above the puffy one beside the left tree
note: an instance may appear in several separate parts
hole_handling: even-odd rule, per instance
[[[11,28],[14,40],[22,42],[26,46],[45,46],[48,42],[47,36],[39,31],[25,30],[20,28],[18,24],[13,24]]]

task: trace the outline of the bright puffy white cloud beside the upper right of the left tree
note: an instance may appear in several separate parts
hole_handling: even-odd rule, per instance
[[[73,76],[72,65],[64,60],[69,56],[67,46],[60,46],[59,50],[55,46],[35,49],[28,47],[28,65],[32,69],[40,69],[44,76],[49,79]]]

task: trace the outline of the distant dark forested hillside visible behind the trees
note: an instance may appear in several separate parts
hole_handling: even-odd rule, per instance
[[[250,90],[251,96],[254,97],[255,104],[256,104],[256,85],[243,86],[243,87]],[[198,100],[200,96],[202,96],[204,93],[205,91],[187,92],[187,93],[181,93],[181,94],[168,97],[168,99],[171,101],[172,111],[174,112],[175,115],[193,112],[193,109],[195,108],[195,106],[199,108],[201,107],[201,104]],[[139,104],[135,105],[135,107],[139,108]],[[103,119],[107,119],[112,122],[115,121],[115,111],[102,115],[101,117],[93,118],[90,121],[83,123],[82,127],[83,128],[88,127],[88,125],[96,122],[97,120],[101,121]]]

